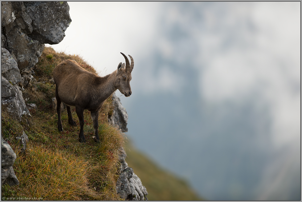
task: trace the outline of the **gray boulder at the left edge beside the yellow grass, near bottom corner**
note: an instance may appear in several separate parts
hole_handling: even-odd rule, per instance
[[[15,152],[1,137],[1,185],[5,183],[9,184],[10,186],[19,184],[19,180],[17,179],[12,167],[15,160]]]

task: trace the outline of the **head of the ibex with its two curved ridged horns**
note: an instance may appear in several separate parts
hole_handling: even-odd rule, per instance
[[[117,89],[119,89],[120,93],[124,94],[126,97],[131,95],[131,87],[130,87],[130,81],[131,81],[131,72],[134,66],[133,58],[129,55],[131,59],[131,65],[129,63],[128,57],[124,55],[124,53],[121,53],[125,60],[125,63],[121,63],[117,66],[116,71],[116,79],[115,79],[115,86]]]

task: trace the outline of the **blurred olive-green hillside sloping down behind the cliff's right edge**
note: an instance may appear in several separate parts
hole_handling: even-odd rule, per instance
[[[126,142],[127,163],[148,190],[149,200],[204,200],[185,180],[165,171]]]

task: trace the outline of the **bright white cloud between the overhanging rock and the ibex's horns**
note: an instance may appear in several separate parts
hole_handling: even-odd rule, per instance
[[[148,54],[160,2],[68,2],[72,22],[56,51],[76,54],[101,75],[117,69],[124,58]],[[147,51],[147,52],[146,52]],[[135,66],[136,67],[136,66]]]

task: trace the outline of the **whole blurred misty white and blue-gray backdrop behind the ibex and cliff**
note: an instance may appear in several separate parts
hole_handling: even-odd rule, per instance
[[[52,48],[101,76],[134,59],[137,149],[209,200],[300,200],[300,2],[68,4]]]

